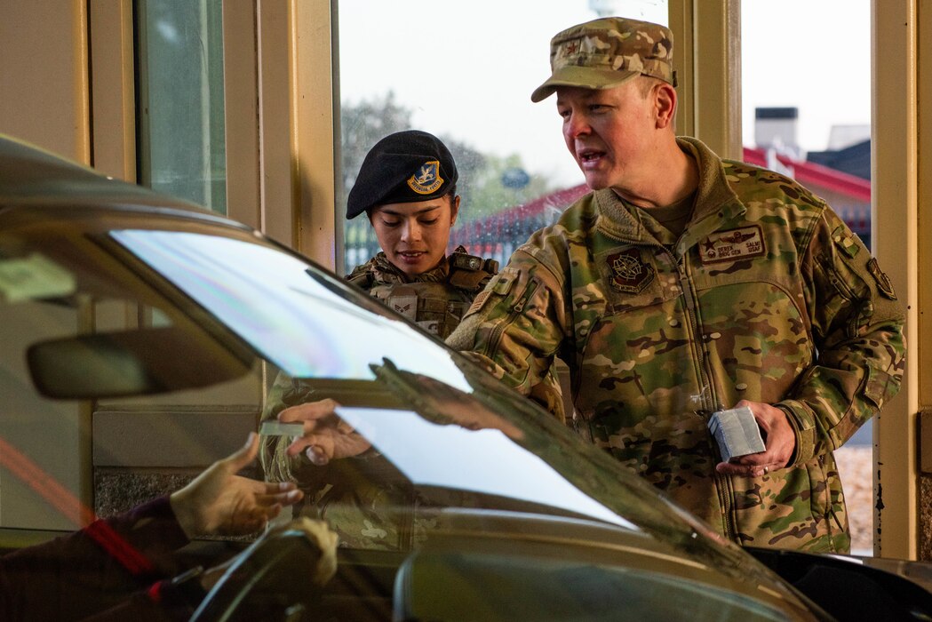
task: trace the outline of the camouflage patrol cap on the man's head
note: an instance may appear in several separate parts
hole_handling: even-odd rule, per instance
[[[550,40],[553,75],[531,93],[531,102],[557,87],[610,89],[634,76],[653,76],[677,86],[673,33],[651,21],[603,18],[573,26]]]

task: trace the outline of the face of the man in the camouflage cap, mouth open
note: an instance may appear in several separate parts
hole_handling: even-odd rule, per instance
[[[653,99],[641,87],[631,79],[605,90],[556,90],[563,139],[594,190],[614,187],[624,195],[650,166],[656,120]]]

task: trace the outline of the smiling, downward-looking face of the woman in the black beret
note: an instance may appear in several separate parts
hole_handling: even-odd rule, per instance
[[[369,210],[385,256],[408,276],[432,270],[443,259],[450,228],[457,220],[459,196],[414,203],[390,203]]]

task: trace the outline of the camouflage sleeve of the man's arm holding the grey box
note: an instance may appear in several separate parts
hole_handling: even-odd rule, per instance
[[[828,207],[800,268],[817,359],[776,405],[796,429],[793,463],[841,447],[897,394],[906,352],[889,279]]]

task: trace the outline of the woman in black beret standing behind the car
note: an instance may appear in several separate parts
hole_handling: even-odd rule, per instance
[[[459,213],[458,177],[440,139],[399,131],[366,154],[347,200],[347,218],[365,213],[382,247],[349,273],[349,283],[440,339],[498,271],[497,262],[461,246],[446,256]]]

